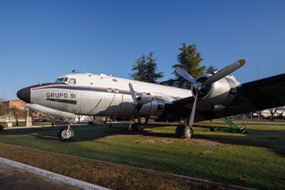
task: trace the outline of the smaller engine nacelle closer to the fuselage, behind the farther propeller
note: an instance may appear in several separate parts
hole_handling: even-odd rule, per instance
[[[140,98],[144,99],[143,96]],[[155,99],[153,101],[137,107],[138,114],[140,116],[161,116],[164,109],[165,101],[157,96],[155,96]]]

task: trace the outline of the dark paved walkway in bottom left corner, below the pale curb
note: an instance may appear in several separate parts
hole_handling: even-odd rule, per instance
[[[77,187],[0,163],[0,190],[76,190]]]

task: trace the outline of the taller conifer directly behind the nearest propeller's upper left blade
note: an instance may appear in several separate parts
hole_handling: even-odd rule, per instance
[[[205,66],[200,66],[202,57],[200,52],[197,51],[197,48],[194,44],[187,46],[185,43],[182,44],[182,47],[179,49],[180,54],[177,56],[178,64],[172,66],[180,66],[182,69],[191,74],[195,79],[204,74]],[[185,81],[179,74],[175,71],[173,72],[177,79],[177,87],[191,89],[191,84],[188,81]]]

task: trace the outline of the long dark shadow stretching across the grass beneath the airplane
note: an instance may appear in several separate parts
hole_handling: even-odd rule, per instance
[[[112,124],[112,127],[106,126],[72,126],[75,131],[75,136],[71,140],[76,141],[94,141],[105,136],[113,135],[142,135],[160,138],[175,138],[175,126],[173,126],[173,133],[160,131],[160,126],[169,126],[169,124],[150,124],[147,125],[147,130],[144,131],[129,131],[126,124]],[[228,129],[227,127],[222,127]],[[61,127],[39,128],[39,129],[13,129],[9,131],[1,131],[1,135],[30,135],[36,139],[43,139],[46,141],[59,141],[57,134]],[[249,129],[248,134],[236,135],[227,132],[208,131],[209,126],[194,126],[197,133],[194,131],[195,139],[206,139],[222,144],[245,145],[245,146],[260,146],[268,148],[285,156],[285,129],[283,130],[254,130]],[[203,129],[203,130],[201,130]],[[207,132],[204,132],[207,131]],[[222,133],[222,134],[221,134]],[[1,141],[1,140],[0,140]]]

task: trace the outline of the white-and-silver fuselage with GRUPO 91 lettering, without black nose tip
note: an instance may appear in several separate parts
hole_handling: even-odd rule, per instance
[[[30,102],[78,115],[130,117],[135,106],[129,83],[133,84],[137,94],[152,94],[169,102],[192,96],[192,92],[186,89],[103,74],[68,74],[58,78],[76,79],[76,84],[66,81],[31,87]]]

